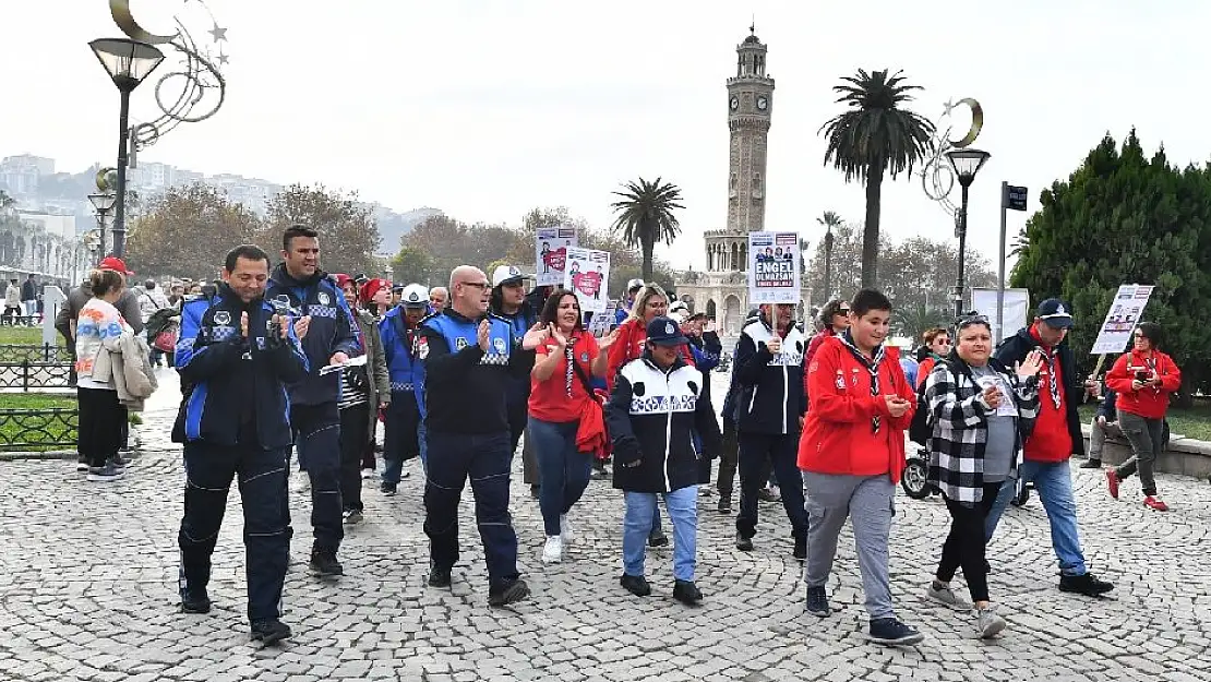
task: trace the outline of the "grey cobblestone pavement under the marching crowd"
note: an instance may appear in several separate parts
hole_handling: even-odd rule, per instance
[[[1032,500],[1006,514],[992,545],[991,586],[1009,630],[976,640],[970,615],[920,596],[948,523],[943,505],[901,495],[893,588],[899,614],[928,640],[888,649],[861,638],[866,618],[848,532],[830,585],[843,611],[826,620],[804,614],[800,566],[776,505],[762,506],[757,550],[746,555],[733,548],[731,517],[704,498],[700,608],[672,600],[667,550],[649,554],[654,595],[631,596],[618,585],[620,495],[599,481],[574,512],[580,539],[570,557],[544,567],[536,504],[515,477],[529,601],[488,608],[467,503],[454,589],[427,589],[421,477],[412,463],[396,498],[367,483],[367,518],[345,540],[346,575],[335,584],[305,572],[309,504],[292,493],[283,620],[295,637],[263,651],[248,642],[245,623],[235,494],[216,552],[217,608],[177,612],[183,474],[167,440],[177,401],[171,376],[126,480],[88,485],[68,462],[0,464],[0,680],[1211,681],[1211,487],[1161,476],[1173,511],[1157,514],[1137,503],[1137,483],[1125,485],[1115,503],[1100,474],[1075,469],[1086,554],[1096,573],[1117,581],[1114,598],[1056,589],[1046,517]]]

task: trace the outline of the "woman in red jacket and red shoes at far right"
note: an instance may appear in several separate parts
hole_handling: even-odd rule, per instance
[[[1165,412],[1169,394],[1182,385],[1182,372],[1173,360],[1158,350],[1160,325],[1142,322],[1135,331],[1135,348],[1124,354],[1108,374],[1106,386],[1119,394],[1115,407],[1119,426],[1131,443],[1131,459],[1106,470],[1110,497],[1119,499],[1119,482],[1140,471],[1143,504],[1157,511],[1169,511],[1157,494],[1153,466],[1165,447]]]

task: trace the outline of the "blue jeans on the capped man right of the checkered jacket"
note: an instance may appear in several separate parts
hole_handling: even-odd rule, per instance
[[[1060,560],[1060,573],[1064,575],[1084,575],[1085,555],[1080,551],[1080,535],[1077,532],[1077,502],[1072,497],[1072,470],[1068,462],[1023,462],[1018,469],[1023,483],[1034,482],[1034,491],[1043,502],[1043,509],[1051,522],[1051,548]],[[1017,482],[1008,478],[1000,486],[997,504],[985,521],[985,539],[992,540],[1000,515],[1017,494]]]

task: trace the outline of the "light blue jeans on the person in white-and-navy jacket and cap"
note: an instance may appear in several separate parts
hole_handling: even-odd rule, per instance
[[[546,487],[546,482],[543,487]],[[685,486],[670,493],[626,492],[622,573],[643,575],[643,558],[648,551],[648,534],[652,533],[652,517],[656,512],[659,494],[665,498],[668,518],[673,525],[673,578],[693,583],[698,555],[698,486]]]

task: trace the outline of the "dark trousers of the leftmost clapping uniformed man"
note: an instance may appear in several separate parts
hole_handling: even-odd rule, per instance
[[[282,584],[291,560],[291,510],[286,493],[288,447],[185,443],[185,516],[180,520],[180,592],[211,581],[211,555],[226,511],[228,489],[239,476],[243,502],[248,620],[281,615]]]

